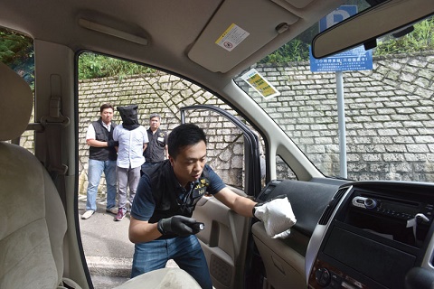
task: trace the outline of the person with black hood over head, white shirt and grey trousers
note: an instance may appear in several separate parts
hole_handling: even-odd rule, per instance
[[[146,128],[138,124],[137,105],[117,107],[122,124],[113,131],[113,140],[118,142],[118,161],[116,176],[118,179],[118,214],[116,221],[124,219],[127,214],[127,190],[129,203],[136,195],[140,170],[145,157],[143,152],[148,143]]]

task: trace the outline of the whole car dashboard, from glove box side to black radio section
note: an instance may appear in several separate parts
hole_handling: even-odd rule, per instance
[[[434,288],[434,184],[274,180],[297,218],[285,239],[253,238],[274,288]]]

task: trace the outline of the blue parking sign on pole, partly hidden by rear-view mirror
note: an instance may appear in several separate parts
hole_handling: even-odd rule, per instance
[[[335,23],[357,13],[356,5],[342,5],[332,13],[327,14],[319,21],[319,30],[323,31]],[[363,46],[356,47],[349,51],[344,51],[320,60],[317,60],[310,54],[310,70],[312,72],[330,72],[345,70],[372,70],[373,69],[373,52],[365,51]]]

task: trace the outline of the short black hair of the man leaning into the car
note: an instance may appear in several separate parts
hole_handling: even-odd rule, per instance
[[[199,126],[194,124],[176,126],[167,139],[169,155],[176,159],[179,151],[185,146],[198,144],[201,141],[206,144],[206,135]]]

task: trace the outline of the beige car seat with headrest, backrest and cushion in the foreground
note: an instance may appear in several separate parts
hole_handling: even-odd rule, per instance
[[[5,289],[62,288],[67,221],[61,198],[42,163],[23,147],[5,142],[23,134],[32,107],[32,90],[0,62],[0,288]],[[135,288],[200,286],[184,270],[171,268],[118,286]]]

